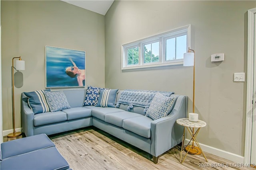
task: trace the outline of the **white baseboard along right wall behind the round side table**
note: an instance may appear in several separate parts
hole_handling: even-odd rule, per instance
[[[189,141],[190,141],[190,139],[185,139],[184,144],[188,145]],[[210,154],[214,154],[216,156],[220,156],[222,158],[231,160],[235,163],[244,163],[244,156],[240,156],[238,154],[227,152],[225,150],[221,150],[221,149],[214,148],[214,147],[211,147],[208,145],[204,145],[202,143],[199,143],[199,145],[200,145],[201,149],[205,152],[208,152]]]

